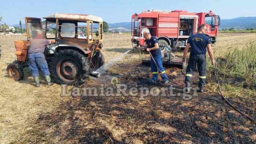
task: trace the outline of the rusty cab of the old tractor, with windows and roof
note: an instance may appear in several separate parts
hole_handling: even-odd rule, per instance
[[[56,44],[48,47],[48,54],[54,54],[55,51],[63,47],[77,49],[84,54],[90,53],[94,41],[98,45],[102,43],[103,37],[103,20],[100,17],[86,14],[65,14],[56,13],[44,17],[45,21],[41,22],[40,18],[26,17],[27,37],[32,37],[32,30],[42,30],[46,39],[55,39]],[[96,38],[96,32],[98,37]],[[54,34],[48,35],[48,33]]]

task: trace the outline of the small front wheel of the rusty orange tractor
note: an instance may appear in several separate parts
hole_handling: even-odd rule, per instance
[[[23,69],[20,66],[20,62],[18,62],[17,60],[9,64],[6,70],[8,76],[13,78],[14,80],[22,80],[24,77]]]

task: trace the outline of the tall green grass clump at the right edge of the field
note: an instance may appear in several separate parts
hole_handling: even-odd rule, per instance
[[[256,88],[256,45],[242,50],[232,50],[218,61],[218,71],[222,78],[231,77],[243,80],[244,86]]]

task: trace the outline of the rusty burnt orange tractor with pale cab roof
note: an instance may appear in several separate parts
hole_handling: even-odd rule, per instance
[[[8,75],[15,80],[23,78],[22,69],[28,67],[27,55],[32,31],[42,30],[46,39],[56,40],[44,52],[52,80],[57,84],[84,84],[90,72],[104,64],[104,57],[100,52],[102,18],[86,14],[56,13],[44,19],[46,20],[41,22],[40,18],[25,18],[28,40],[14,42],[17,60],[8,65]]]

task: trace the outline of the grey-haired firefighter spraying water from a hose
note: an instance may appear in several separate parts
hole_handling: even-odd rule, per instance
[[[168,77],[167,74],[164,70],[163,64],[162,64],[162,54],[161,54],[161,50],[159,48],[158,45],[158,40],[156,37],[151,36],[150,32],[144,32],[143,36],[146,40],[146,44],[145,44],[145,49],[146,51],[150,52],[154,58],[154,60],[156,61],[156,64],[158,65],[158,68],[160,69],[160,73],[161,73],[161,77],[162,77],[162,82],[164,84],[168,84]],[[151,58],[151,72],[153,74],[152,79],[150,80],[151,83],[156,83],[158,82],[158,69],[156,67],[156,64],[154,63],[153,59]]]

